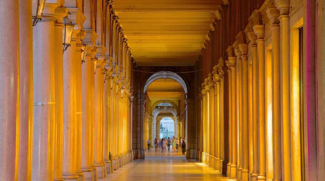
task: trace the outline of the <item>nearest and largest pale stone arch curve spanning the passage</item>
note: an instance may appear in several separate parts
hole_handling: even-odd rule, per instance
[[[146,82],[146,84],[144,85],[144,89],[143,92],[146,92],[148,86],[155,80],[159,79],[159,78],[164,78],[164,74],[167,73],[168,74],[168,78],[174,79],[175,81],[177,81],[184,89],[185,93],[188,93],[188,88],[186,86],[185,81],[183,80],[183,78],[181,78],[179,75],[177,75],[174,72],[171,71],[160,71],[157,72],[155,74],[153,74],[152,76],[150,76]]]

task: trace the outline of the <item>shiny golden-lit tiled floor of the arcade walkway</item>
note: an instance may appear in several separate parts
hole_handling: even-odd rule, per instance
[[[211,167],[195,160],[186,160],[181,152],[166,153],[154,149],[145,152],[145,160],[135,160],[99,181],[142,180],[216,180],[233,181]]]

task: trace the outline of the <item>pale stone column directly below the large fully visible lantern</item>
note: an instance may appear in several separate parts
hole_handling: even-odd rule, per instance
[[[76,174],[76,34],[72,32],[71,46],[63,54],[63,164],[64,180],[77,181]]]

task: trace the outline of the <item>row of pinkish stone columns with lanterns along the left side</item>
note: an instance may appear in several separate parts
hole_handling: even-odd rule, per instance
[[[97,4],[101,24],[101,8],[73,2],[48,1],[34,27],[31,0],[2,2],[2,180],[93,181],[111,173],[110,153],[114,169],[133,160],[127,42],[111,6]],[[74,29],[63,52],[64,17]]]

